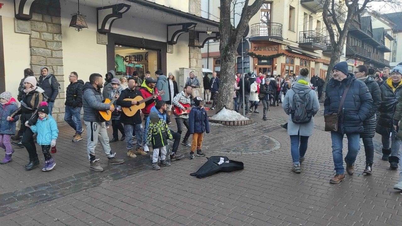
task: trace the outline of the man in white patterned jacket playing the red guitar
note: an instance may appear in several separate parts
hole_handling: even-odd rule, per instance
[[[177,132],[181,134],[183,132],[183,124],[187,128],[186,135],[184,136],[182,144],[184,144],[187,147],[191,147],[191,144],[189,143],[189,137],[190,137],[190,130],[189,130],[189,113],[190,110],[187,110],[183,104],[189,104],[191,105],[191,88],[190,85],[186,85],[183,89],[182,92],[180,92],[176,97],[172,99],[172,104],[174,106],[179,107],[180,109],[183,109],[183,113],[181,115],[174,115],[173,118],[176,119],[176,124],[177,124]]]

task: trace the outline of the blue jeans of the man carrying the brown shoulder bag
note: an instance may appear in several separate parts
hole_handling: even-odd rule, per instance
[[[349,164],[354,164],[357,154],[360,150],[360,134],[346,134],[348,138],[348,153],[346,154],[346,161]],[[343,174],[343,134],[331,132],[332,140],[332,158],[334,159],[335,171],[337,174]]]

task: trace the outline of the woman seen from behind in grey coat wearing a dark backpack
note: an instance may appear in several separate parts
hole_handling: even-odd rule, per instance
[[[289,115],[287,134],[295,173],[301,172],[300,162],[304,161],[308,138],[313,135],[314,115],[320,110],[316,92],[309,85],[308,73],[307,68],[300,69],[296,83],[287,91],[282,103],[283,110]]]

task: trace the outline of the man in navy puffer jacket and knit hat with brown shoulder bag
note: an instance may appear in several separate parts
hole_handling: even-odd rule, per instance
[[[373,99],[366,84],[356,80],[353,74],[348,74],[347,62],[339,62],[332,69],[333,78],[328,82],[326,98],[324,101],[324,115],[338,113],[339,105],[347,86],[349,90],[338,121],[338,131],[331,132],[332,156],[336,175],[330,183],[337,184],[345,179],[343,168],[343,136],[348,138],[348,153],[345,157],[346,171],[349,175],[354,173],[354,163],[360,149],[360,133],[364,131],[363,121],[370,116]]]

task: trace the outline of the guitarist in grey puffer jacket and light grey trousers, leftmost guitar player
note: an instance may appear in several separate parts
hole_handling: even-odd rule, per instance
[[[112,153],[107,136],[106,124],[98,117],[98,111],[115,110],[110,104],[102,103],[103,96],[100,89],[103,87],[103,78],[100,74],[91,74],[89,82],[82,88],[82,107],[84,109],[84,123],[86,126],[86,135],[88,139],[88,158],[90,160],[90,169],[96,172],[102,172],[103,168],[99,165],[99,159],[95,158],[95,148],[98,145],[98,139],[102,145],[103,151],[109,159],[108,164],[121,164],[123,159],[117,159],[116,153]],[[117,98],[118,95],[116,95]]]

